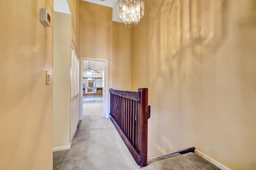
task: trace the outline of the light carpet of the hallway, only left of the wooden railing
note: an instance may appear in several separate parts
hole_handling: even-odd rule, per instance
[[[139,168],[109,118],[102,101],[83,102],[84,119],[70,150],[53,153],[54,170],[106,170]]]

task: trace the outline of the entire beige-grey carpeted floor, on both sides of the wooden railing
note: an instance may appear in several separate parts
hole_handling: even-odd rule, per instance
[[[140,168],[109,118],[103,117],[102,102],[84,102],[70,150],[53,153],[54,170],[219,170],[194,153],[150,160]]]

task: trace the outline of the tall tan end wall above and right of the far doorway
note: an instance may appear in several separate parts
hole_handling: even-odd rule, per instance
[[[131,90],[131,29],[112,8],[80,1],[80,57],[108,59],[108,88]]]

